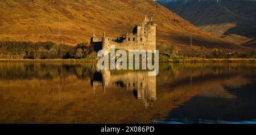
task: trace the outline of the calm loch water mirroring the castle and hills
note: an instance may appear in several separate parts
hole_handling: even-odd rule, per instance
[[[0,63],[0,123],[256,123],[256,63]]]

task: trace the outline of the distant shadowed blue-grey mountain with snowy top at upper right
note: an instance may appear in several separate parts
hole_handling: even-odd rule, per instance
[[[196,27],[218,36],[236,34],[256,37],[256,1],[158,0]]]

